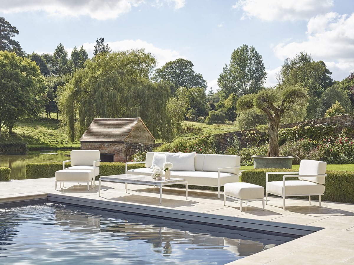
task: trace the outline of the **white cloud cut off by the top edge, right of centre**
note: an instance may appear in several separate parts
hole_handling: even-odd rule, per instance
[[[244,11],[241,19],[264,21],[308,20],[333,6],[333,0],[238,0],[233,8]]]

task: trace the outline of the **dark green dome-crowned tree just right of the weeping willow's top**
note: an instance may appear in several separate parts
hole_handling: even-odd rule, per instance
[[[156,69],[152,78],[155,82],[169,81],[175,85],[176,89],[179,87],[206,89],[206,81],[201,74],[195,73],[193,67],[194,64],[191,61],[180,58]],[[175,91],[171,92],[174,94]]]

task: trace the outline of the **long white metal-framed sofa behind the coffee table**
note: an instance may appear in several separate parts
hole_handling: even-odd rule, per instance
[[[125,164],[126,174],[151,175],[152,161],[155,152],[147,152],[145,161],[127,162]],[[156,152],[164,154],[163,152]],[[144,168],[127,169],[129,164],[145,163]],[[220,198],[220,187],[225,183],[239,182],[240,156],[215,155],[215,154],[195,154],[194,171],[175,171],[171,169],[171,178],[183,178],[188,181],[188,185],[209,186],[218,188]]]

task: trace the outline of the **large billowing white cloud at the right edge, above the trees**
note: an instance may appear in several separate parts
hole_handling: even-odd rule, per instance
[[[316,61],[322,60],[342,80],[354,71],[354,13],[339,15],[327,13],[311,18],[307,24],[307,39],[301,42],[282,42],[274,47],[280,59],[293,57],[301,51],[310,53]]]

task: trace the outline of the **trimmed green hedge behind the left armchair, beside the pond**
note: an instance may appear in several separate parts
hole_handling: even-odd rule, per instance
[[[65,168],[70,167],[70,163],[65,163]],[[128,165],[128,169],[145,167],[144,164]],[[63,162],[53,163],[32,163],[26,165],[26,179],[53,178],[55,172],[63,169]],[[99,165],[99,176],[125,174],[125,163],[101,162]]]

